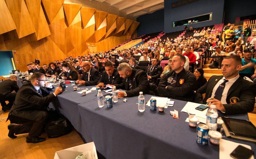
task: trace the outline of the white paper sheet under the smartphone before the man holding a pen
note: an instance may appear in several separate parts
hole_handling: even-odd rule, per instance
[[[195,114],[201,118],[205,118],[206,119],[206,113],[208,109],[205,109],[204,111],[199,111],[197,109],[195,109],[196,107],[198,107],[199,103],[193,103],[193,102],[187,102],[187,104],[183,107],[183,109],[181,110],[182,112],[187,113],[187,111],[189,112],[189,114]]]

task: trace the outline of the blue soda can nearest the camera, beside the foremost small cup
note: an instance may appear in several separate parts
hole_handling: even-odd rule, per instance
[[[208,145],[208,126],[199,124],[197,127],[197,143],[199,145]]]

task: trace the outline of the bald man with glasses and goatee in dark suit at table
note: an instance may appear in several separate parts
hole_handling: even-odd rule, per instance
[[[93,68],[89,61],[83,61],[81,65],[84,74],[81,80],[77,80],[76,84],[84,86],[94,86],[100,80],[100,72]]]

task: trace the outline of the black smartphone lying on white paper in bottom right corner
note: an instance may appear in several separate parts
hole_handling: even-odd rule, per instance
[[[236,159],[248,159],[251,155],[254,154],[253,150],[250,150],[242,145],[238,145],[233,152],[231,152],[230,156]]]

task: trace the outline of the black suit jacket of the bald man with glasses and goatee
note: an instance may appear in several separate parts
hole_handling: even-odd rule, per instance
[[[82,76],[82,80],[86,81],[85,86],[94,86],[97,85],[98,81],[100,80],[100,72],[91,67],[90,70],[90,81],[88,81],[87,73],[85,72]]]

